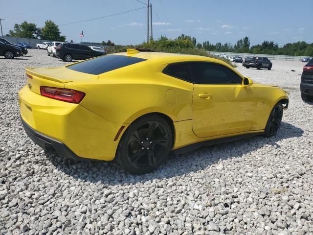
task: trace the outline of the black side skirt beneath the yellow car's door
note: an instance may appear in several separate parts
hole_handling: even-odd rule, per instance
[[[197,143],[193,143],[193,144],[181,147],[181,148],[174,149],[172,150],[172,153],[175,155],[178,155],[178,154],[186,153],[189,151],[193,151],[202,146],[209,146],[209,145],[225,143],[225,142],[230,142],[230,141],[238,141],[238,140],[253,137],[253,136],[259,136],[259,135],[262,135],[263,133],[264,132],[248,133],[248,134],[243,134],[243,135],[238,135],[238,136],[231,136],[231,137],[225,137],[225,138],[220,138],[220,139],[215,139],[215,140],[197,142]]]

